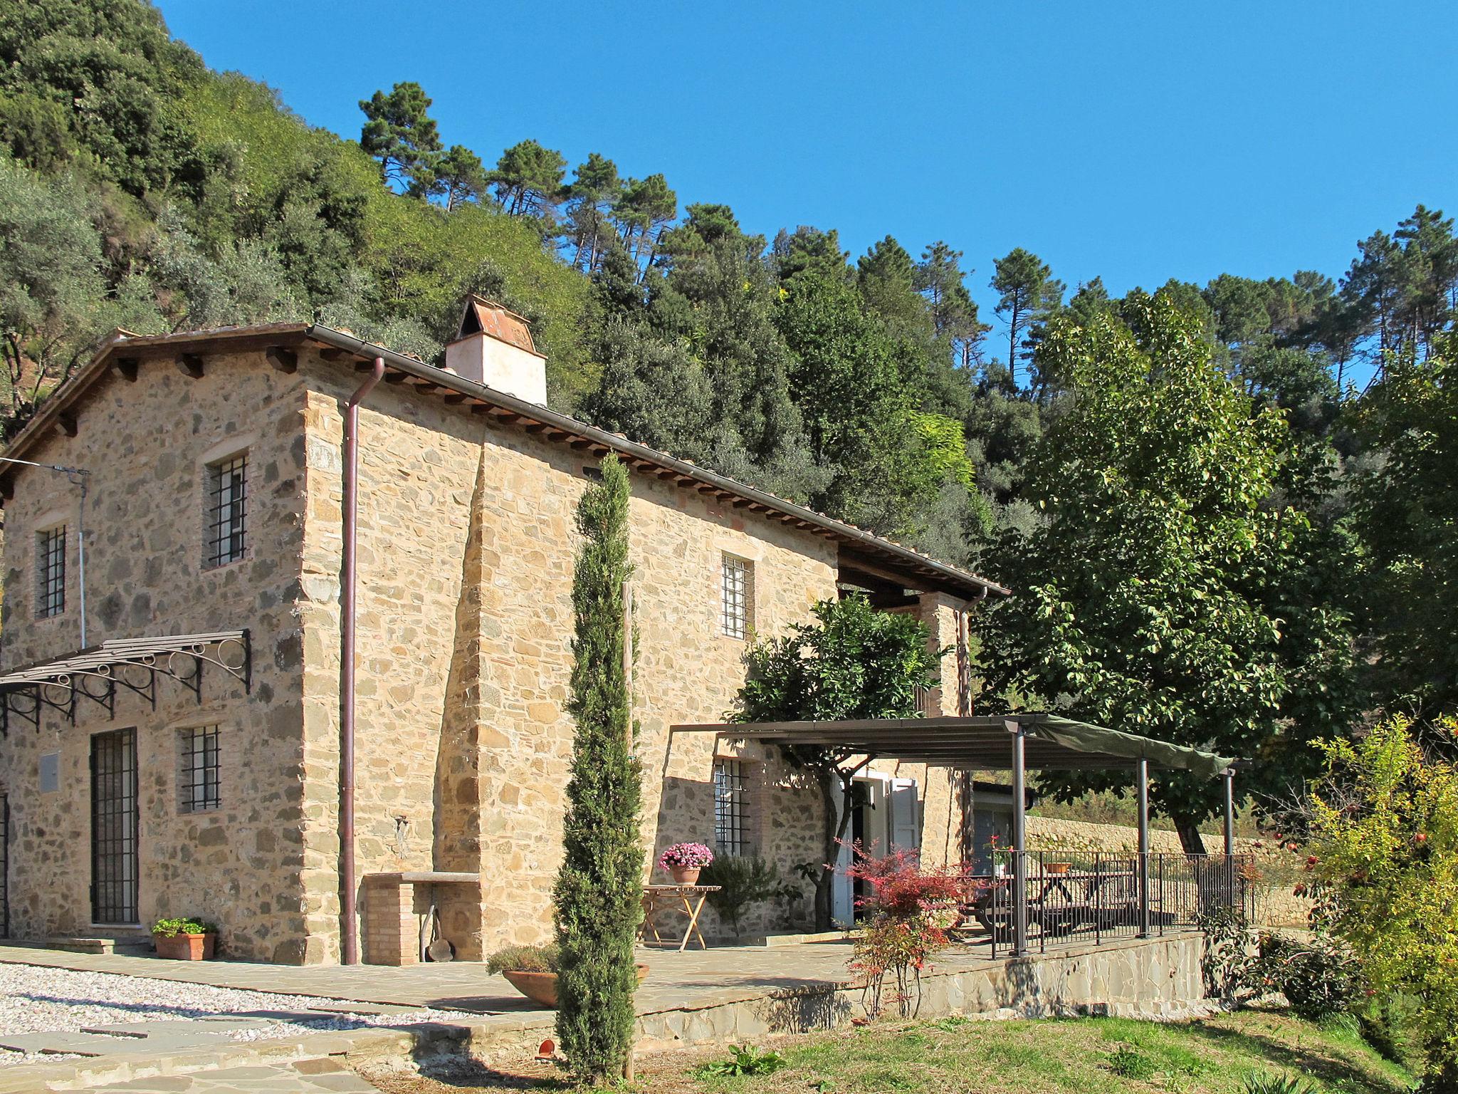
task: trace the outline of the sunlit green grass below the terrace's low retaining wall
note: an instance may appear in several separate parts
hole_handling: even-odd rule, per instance
[[[643,1094],[1028,1094],[1174,1091],[1247,1094],[1283,1076],[1312,1094],[1407,1094],[1413,1076],[1384,1060],[1352,1023],[1317,1025],[1250,1009],[1193,1023],[1124,1018],[882,1023],[765,1041],[784,1065],[716,1074],[729,1050],[644,1055],[623,1091]],[[763,1046],[761,1046],[763,1047]],[[544,1065],[480,1071],[452,1081],[369,1075],[388,1094],[570,1091]]]

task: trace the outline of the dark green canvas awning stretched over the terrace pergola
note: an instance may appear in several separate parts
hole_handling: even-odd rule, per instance
[[[1155,770],[1210,779],[1235,760],[1048,713],[974,718],[873,718],[849,722],[719,722],[675,725],[725,740],[838,747],[857,754],[977,772],[1012,770],[1012,728],[1024,731],[1028,770],[1114,769],[1147,760]]]

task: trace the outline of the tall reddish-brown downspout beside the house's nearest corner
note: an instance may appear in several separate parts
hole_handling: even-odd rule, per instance
[[[340,575],[340,919],[344,964],[360,963],[354,881],[354,532],[359,515],[360,403],[385,375],[385,359],[344,404],[344,567]]]

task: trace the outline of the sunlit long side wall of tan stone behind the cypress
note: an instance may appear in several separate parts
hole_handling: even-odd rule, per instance
[[[308,395],[303,562],[305,833],[311,954],[337,954],[338,406],[357,384],[313,368]],[[560,861],[572,722],[573,518],[596,461],[525,430],[381,385],[360,416],[357,868],[480,871],[439,893],[462,957],[548,936]],[[779,633],[835,595],[835,547],[765,515],[633,474],[634,716],[644,776],[644,877],[669,843],[713,842],[716,757],[741,759],[760,788],[754,842],[793,877],[821,850],[814,785],[758,747],[713,734],[744,680],[745,642],[720,627],[720,566],[754,567],[752,623]],[[920,767],[888,773],[940,779]],[[935,805],[945,827],[946,794]],[[363,882],[362,882],[363,884]],[[808,890],[806,890],[808,891]],[[363,900],[367,900],[367,891]],[[800,910],[808,912],[808,900]],[[784,909],[761,909],[770,926]],[[773,923],[776,926],[781,923]],[[710,916],[710,929],[714,923]]]

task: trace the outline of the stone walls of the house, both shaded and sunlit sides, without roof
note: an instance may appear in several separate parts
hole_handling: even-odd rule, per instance
[[[210,356],[195,379],[149,360],[136,382],[101,379],[80,404],[79,435],[38,451],[95,473],[90,640],[248,627],[254,687],[245,694],[214,671],[203,706],[162,686],[155,712],[122,693],[115,719],[83,703],[74,728],[54,712],[41,734],[12,721],[0,780],[12,805],[16,934],[90,929],[87,737],[137,726],[143,922],[198,913],[222,923],[238,957],[340,958],[341,407],[359,379],[309,347],[293,373],[261,352]],[[467,872],[481,881],[434,885],[423,899],[439,906],[461,957],[542,941],[572,748],[573,516],[596,459],[405,382],[369,395],[360,439],[362,923],[372,874]],[[204,468],[243,449],[249,556],[204,572]],[[7,667],[79,645],[74,546],[67,613],[34,617],[35,532],[71,522],[76,505],[64,480],[44,474],[20,473],[6,509]],[[722,557],[752,565],[754,630],[780,633],[835,595],[837,546],[652,474],[631,481],[644,878],[668,843],[713,842],[713,763],[742,759],[757,779],[751,843],[793,880],[796,864],[824,856],[818,789],[777,751],[669,726],[722,721],[744,680],[746,643],[720,626]],[[958,608],[949,598],[921,605],[937,645],[955,642]],[[949,665],[935,702],[952,712]],[[222,808],[179,814],[178,731],[210,723],[222,726]],[[55,795],[35,792],[47,750],[61,753]],[[892,761],[873,770],[917,780],[927,853],[945,858],[959,829],[956,779]],[[764,907],[746,928],[803,923],[808,913],[808,899]]]

